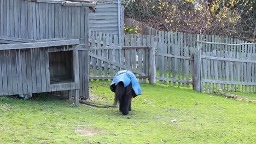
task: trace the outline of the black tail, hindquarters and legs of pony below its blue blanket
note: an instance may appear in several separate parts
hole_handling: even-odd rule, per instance
[[[131,100],[136,97],[135,92],[132,89],[132,84],[130,83],[127,87],[124,87],[123,82],[119,82],[115,86],[115,100],[114,105],[119,103],[119,111],[123,115],[127,115],[131,111]]]

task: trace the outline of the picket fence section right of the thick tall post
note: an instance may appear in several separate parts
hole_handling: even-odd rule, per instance
[[[256,49],[228,38],[229,43],[202,42],[202,82],[206,93],[214,89],[256,92]],[[241,43],[242,42],[242,43]]]

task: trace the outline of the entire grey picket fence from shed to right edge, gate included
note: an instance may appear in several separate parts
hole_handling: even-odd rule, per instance
[[[90,79],[113,79],[118,70],[131,69],[138,77],[155,73],[159,83],[193,86],[200,92],[256,92],[255,43],[163,31],[158,35],[125,35],[120,45],[115,35],[92,32],[89,41],[91,55],[97,55],[91,57]],[[155,50],[154,71],[150,68],[150,50]]]

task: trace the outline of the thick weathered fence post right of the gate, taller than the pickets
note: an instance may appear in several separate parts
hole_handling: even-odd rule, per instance
[[[197,92],[203,92],[202,90],[202,64],[201,64],[201,35],[197,35],[196,47],[194,51],[194,90]]]

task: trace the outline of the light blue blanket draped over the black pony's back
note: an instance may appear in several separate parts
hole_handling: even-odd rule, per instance
[[[132,89],[135,92],[136,96],[141,94],[141,86],[139,86],[136,76],[132,74],[131,71],[129,70],[118,71],[117,75],[115,75],[114,79],[110,84],[110,89],[112,92],[115,92],[115,86],[120,81],[124,83],[124,87],[127,87],[131,82]]]

